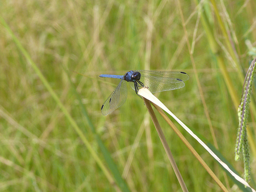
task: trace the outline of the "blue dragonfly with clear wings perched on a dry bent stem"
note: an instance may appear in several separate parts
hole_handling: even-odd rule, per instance
[[[121,79],[115,90],[101,106],[102,115],[108,115],[124,104],[127,98],[125,81],[129,82],[132,89],[135,90],[138,95],[139,89],[144,86],[146,86],[152,93],[169,91],[184,87],[185,84],[183,81],[189,79],[188,74],[185,72],[151,70],[132,70],[128,71],[123,76],[102,74],[100,77]]]

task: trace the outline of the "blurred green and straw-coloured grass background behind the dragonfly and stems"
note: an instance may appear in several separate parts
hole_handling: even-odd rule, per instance
[[[196,1],[177,3],[174,0],[2,1],[0,16],[110,174],[108,177],[102,166],[96,163],[97,158],[88,150],[89,145],[73,129],[1,22],[0,191],[122,190],[108,167],[111,160],[103,155],[97,135],[130,191],[181,191],[147,109],[128,84],[124,105],[108,116],[101,114],[102,103],[119,81],[98,76],[123,75],[132,69],[188,73],[190,79],[184,88],[156,96],[188,127],[219,148],[220,153],[243,175],[243,162],[234,161],[238,118],[232,97],[239,99],[242,93],[239,73],[244,75],[243,71],[252,60],[248,55],[248,44],[256,44],[253,9],[256,3],[253,0],[216,1],[228,31],[227,39],[213,2],[204,1],[198,5]],[[207,38],[209,32],[201,20],[204,17],[208,19],[217,42],[217,52]],[[226,41],[232,45],[235,59]],[[219,56],[227,74],[221,70]],[[243,69],[242,72],[239,68]],[[236,95],[228,89],[225,75],[230,76]],[[199,93],[196,76],[203,95]],[[88,116],[82,112],[76,92]],[[220,191],[162,117],[158,117],[188,190]],[[252,131],[252,140],[255,140],[254,118],[250,122],[248,127]],[[214,136],[209,124],[212,124]],[[212,156],[181,127],[180,131],[228,190],[238,191]],[[255,169],[252,154],[250,184],[254,188]]]

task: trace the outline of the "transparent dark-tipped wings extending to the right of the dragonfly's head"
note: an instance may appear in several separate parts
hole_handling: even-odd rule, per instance
[[[183,81],[189,79],[188,74],[175,71],[150,71],[150,70],[133,70],[140,72],[140,81],[146,85],[150,92],[162,92],[173,89],[179,89],[185,86]],[[129,82],[134,89],[134,83]],[[139,87],[140,89],[141,87]]]

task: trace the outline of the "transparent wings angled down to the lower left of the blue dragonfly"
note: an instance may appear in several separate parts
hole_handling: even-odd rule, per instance
[[[109,95],[108,99],[101,106],[102,115],[108,115],[116,108],[124,104],[127,98],[127,87],[124,79],[116,86],[115,90]]]

